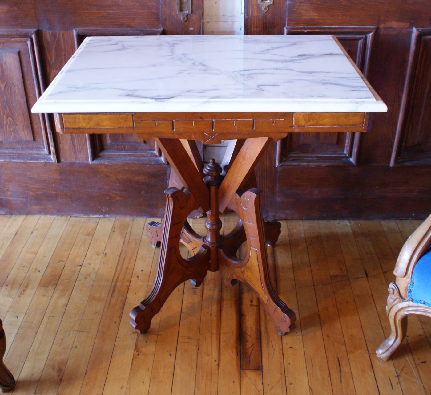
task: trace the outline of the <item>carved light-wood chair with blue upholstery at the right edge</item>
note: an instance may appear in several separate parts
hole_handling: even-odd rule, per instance
[[[389,284],[386,304],[391,332],[376,350],[382,361],[403,341],[408,314],[431,317],[431,215],[403,245],[394,274],[397,279]]]

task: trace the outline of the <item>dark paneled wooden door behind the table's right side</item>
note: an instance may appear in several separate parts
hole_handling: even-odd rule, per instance
[[[387,104],[369,132],[289,135],[257,169],[268,219],[431,212],[431,3],[245,1],[245,34],[333,34]]]

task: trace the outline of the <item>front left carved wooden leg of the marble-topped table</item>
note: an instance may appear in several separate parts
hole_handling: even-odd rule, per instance
[[[147,298],[130,313],[130,323],[140,333],[150,328],[154,315],[181,282],[194,279],[196,285],[200,285],[209,268],[209,254],[205,247],[189,259],[180,254],[183,225],[187,215],[199,208],[199,204],[187,190],[168,188],[165,194],[166,212],[156,280]]]

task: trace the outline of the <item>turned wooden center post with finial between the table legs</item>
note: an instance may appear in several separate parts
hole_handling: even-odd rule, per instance
[[[222,229],[222,221],[219,216],[219,185],[222,182],[223,177],[220,176],[222,167],[218,163],[215,163],[214,159],[211,159],[209,163],[203,168],[205,177],[203,181],[209,187],[209,198],[211,209],[207,211],[207,220],[205,222],[205,228],[208,234],[204,238],[204,242],[210,248],[210,262],[209,270],[216,272],[219,270],[219,264],[217,261],[219,246],[223,243],[223,237],[220,235],[220,229]]]

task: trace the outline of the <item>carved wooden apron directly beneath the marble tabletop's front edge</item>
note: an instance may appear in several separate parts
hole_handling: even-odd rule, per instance
[[[368,113],[59,114],[57,129],[64,134],[134,132],[144,141],[181,136],[205,144],[219,144],[222,140],[253,137],[278,141],[288,132],[339,133],[340,128],[343,132],[365,132],[365,119]]]

